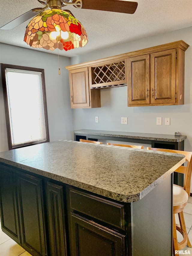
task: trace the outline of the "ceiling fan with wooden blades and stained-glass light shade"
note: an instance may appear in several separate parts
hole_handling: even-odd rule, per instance
[[[55,49],[68,51],[84,47],[88,42],[82,24],[71,11],[62,10],[61,7],[73,5],[82,9],[128,14],[133,14],[137,9],[137,2],[121,0],[38,0],[38,2],[45,5],[44,8],[32,9],[0,29],[13,29],[33,17],[26,27],[24,41],[30,47],[51,51]]]

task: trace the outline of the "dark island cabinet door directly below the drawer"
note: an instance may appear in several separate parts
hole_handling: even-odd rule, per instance
[[[125,236],[71,213],[72,256],[124,256]]]

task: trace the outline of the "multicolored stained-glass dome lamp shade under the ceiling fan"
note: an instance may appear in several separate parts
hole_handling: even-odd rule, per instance
[[[88,38],[82,24],[72,14],[49,9],[29,22],[24,41],[33,48],[67,51],[85,46]]]

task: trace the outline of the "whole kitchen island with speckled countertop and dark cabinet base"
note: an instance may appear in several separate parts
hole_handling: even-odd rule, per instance
[[[170,256],[184,161],[63,140],[1,152],[1,228],[34,256]]]

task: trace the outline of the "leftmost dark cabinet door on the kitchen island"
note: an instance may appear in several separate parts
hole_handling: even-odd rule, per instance
[[[1,228],[8,236],[20,243],[15,173],[12,168],[3,165],[0,165],[0,169]]]

